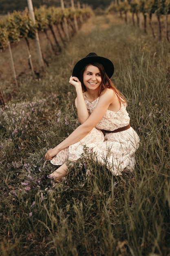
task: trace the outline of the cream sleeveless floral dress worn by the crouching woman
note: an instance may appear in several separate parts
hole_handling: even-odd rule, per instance
[[[85,94],[84,94],[85,97]],[[86,106],[89,114],[91,114],[99,101],[99,97],[93,102],[89,102],[85,98]],[[86,135],[81,141],[61,150],[51,163],[54,165],[62,165],[67,160],[77,160],[82,157],[84,148],[93,152],[97,158],[97,162],[106,164],[107,168],[113,175],[121,175],[126,168],[130,171],[135,166],[134,154],[139,147],[139,136],[135,130],[130,127],[128,130],[115,133],[105,133],[101,130],[116,130],[127,126],[130,117],[126,111],[126,103],[121,102],[119,111],[114,112],[107,110],[104,117],[99,123]]]

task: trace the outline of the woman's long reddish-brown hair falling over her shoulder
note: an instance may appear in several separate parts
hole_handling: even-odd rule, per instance
[[[82,90],[83,90],[83,92],[86,92],[86,90],[87,90],[86,86],[83,83],[83,74],[84,74],[84,71],[85,71],[86,67],[88,67],[89,65],[93,65],[95,67],[98,67],[98,69],[100,70],[100,74],[101,74],[101,77],[102,77],[102,83],[99,86],[99,93],[98,93],[98,95],[100,96],[104,89],[110,88],[110,89],[114,90],[115,94],[119,98],[119,101],[126,102],[126,99],[124,99],[124,97],[121,95],[119,90],[117,90],[115,85],[112,83],[112,81],[110,80],[110,78],[106,74],[106,72],[104,70],[104,66],[101,63],[97,63],[97,62],[88,63],[86,66],[84,66],[84,68],[80,72],[79,80],[82,83]]]

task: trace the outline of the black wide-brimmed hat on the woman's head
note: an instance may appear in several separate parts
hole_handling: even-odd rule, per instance
[[[108,58],[97,56],[95,52],[89,53],[85,58],[82,58],[80,61],[78,61],[75,64],[75,67],[73,68],[72,76],[76,76],[79,78],[80,72],[82,71],[84,66],[94,62],[101,63],[104,66],[104,70],[109,78],[113,76],[113,73],[114,73],[113,63]]]

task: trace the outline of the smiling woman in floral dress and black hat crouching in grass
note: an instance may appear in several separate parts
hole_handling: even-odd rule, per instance
[[[52,164],[61,165],[50,175],[56,182],[67,174],[67,160],[79,159],[84,146],[113,175],[134,168],[139,137],[130,127],[125,99],[110,81],[113,73],[113,63],[95,53],[75,65],[69,83],[75,87],[75,107],[81,125],[45,155]]]

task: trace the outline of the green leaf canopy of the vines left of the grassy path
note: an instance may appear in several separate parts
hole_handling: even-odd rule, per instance
[[[43,31],[47,29],[51,22],[55,25],[63,22],[64,17],[66,19],[79,18],[82,16],[91,15],[92,11],[90,8],[86,9],[65,9],[63,14],[62,8],[49,7],[48,9],[45,6],[35,9],[35,19],[36,26],[33,24],[30,14],[26,11],[14,11],[9,17],[0,22],[0,28],[3,30],[0,34],[0,48],[5,49],[7,46],[7,36],[10,43],[15,43],[20,40],[21,37],[28,37],[31,39],[35,38],[35,31]],[[6,29],[4,29],[6,28]]]

